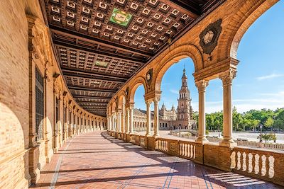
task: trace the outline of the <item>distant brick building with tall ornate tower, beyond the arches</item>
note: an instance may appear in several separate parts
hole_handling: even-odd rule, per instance
[[[146,110],[134,109],[133,127],[135,131],[146,130]],[[153,129],[154,113],[151,112],[151,127]],[[163,103],[159,110],[160,130],[195,129],[196,121],[192,119],[192,106],[190,90],[187,87],[187,76],[185,69],[182,74],[182,87],[180,88],[178,98],[178,108],[174,105],[170,110],[165,108]]]

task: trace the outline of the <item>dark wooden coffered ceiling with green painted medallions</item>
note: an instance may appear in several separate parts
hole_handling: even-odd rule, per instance
[[[131,76],[224,0],[40,0],[65,82],[105,116]]]

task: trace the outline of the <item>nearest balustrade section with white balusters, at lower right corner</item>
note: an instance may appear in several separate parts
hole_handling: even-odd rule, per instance
[[[284,153],[235,147],[231,151],[231,169],[236,173],[283,185]]]

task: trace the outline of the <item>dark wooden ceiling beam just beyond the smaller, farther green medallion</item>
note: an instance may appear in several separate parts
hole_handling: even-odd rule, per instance
[[[113,81],[113,82],[120,82],[124,83],[128,80],[128,78],[120,77],[120,76],[108,76],[106,74],[92,74],[89,71],[81,71],[78,69],[70,69],[67,67],[61,67],[62,73],[65,76],[77,76],[82,78],[88,79],[97,79],[101,81]]]

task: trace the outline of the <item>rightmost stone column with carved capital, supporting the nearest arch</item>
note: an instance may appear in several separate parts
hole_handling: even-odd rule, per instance
[[[223,82],[223,140],[220,146],[234,147],[236,143],[231,137],[233,131],[233,110],[231,107],[232,82],[236,76],[236,69],[229,69],[219,74]]]

